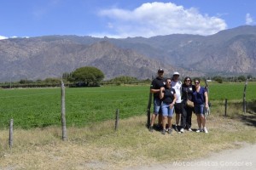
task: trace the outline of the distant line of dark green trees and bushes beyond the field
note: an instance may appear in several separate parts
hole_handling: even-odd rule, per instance
[[[44,87],[58,87],[61,79],[68,87],[96,87],[100,85],[121,85],[121,84],[138,84],[150,83],[152,80],[139,80],[136,77],[120,76],[114,77],[111,80],[103,81],[104,74],[101,70],[92,66],[80,67],[72,72],[65,72],[61,78],[46,78],[44,80],[27,80],[21,79],[19,82],[3,82],[0,83],[0,88],[44,88]],[[206,79],[202,77],[202,79]],[[245,82],[246,80],[256,81],[252,75],[239,77],[207,77],[207,80],[213,82]]]

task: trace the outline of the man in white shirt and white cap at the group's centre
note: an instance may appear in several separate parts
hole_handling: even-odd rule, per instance
[[[176,131],[178,131],[177,126],[179,124],[181,114],[183,113],[182,99],[181,99],[181,96],[182,96],[181,89],[182,89],[182,84],[183,83],[181,81],[179,81],[178,78],[179,78],[179,73],[177,71],[175,71],[173,73],[173,76],[172,76],[172,88],[175,89],[176,96],[177,96],[176,104],[174,105],[174,110],[175,110],[175,113],[176,113],[176,125],[175,125],[174,129]],[[180,132],[181,133],[184,132],[183,128],[181,129]]]

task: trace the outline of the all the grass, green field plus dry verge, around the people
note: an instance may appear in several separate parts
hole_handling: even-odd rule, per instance
[[[191,160],[245,143],[255,144],[255,96],[250,95],[256,94],[254,85],[247,86],[248,113],[243,114],[241,99],[235,96],[241,96],[244,84],[231,84],[240,89],[236,91],[226,84],[210,84],[209,133],[172,135],[148,132],[146,86],[67,88],[66,142],[61,140],[59,88],[0,90],[0,169],[123,169]],[[230,101],[227,116],[222,93]],[[121,119],[115,132],[117,108]],[[6,127],[11,116],[15,117],[15,129],[14,145],[9,149]],[[192,123],[196,128],[195,116]]]

